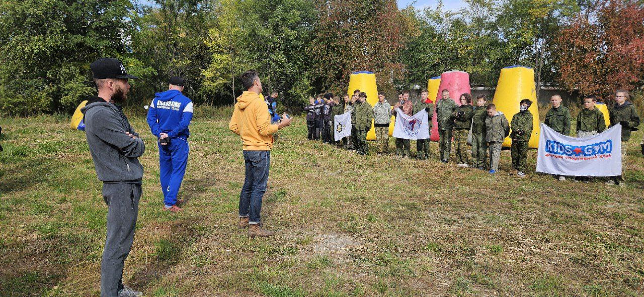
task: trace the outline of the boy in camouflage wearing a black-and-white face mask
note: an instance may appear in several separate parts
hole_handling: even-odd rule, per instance
[[[512,167],[517,170],[516,176],[518,177],[526,176],[524,172],[526,171],[528,141],[530,141],[533,129],[533,116],[528,110],[530,105],[532,105],[532,101],[529,99],[521,100],[520,111],[512,117],[510,122],[510,129],[512,129],[510,134],[512,139]]]

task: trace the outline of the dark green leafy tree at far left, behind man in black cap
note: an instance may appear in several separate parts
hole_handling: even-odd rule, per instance
[[[93,92],[90,63],[125,55],[134,29],[129,0],[4,0],[0,12],[4,114],[70,111]]]

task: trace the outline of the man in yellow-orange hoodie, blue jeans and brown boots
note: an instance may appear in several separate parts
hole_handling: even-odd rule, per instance
[[[292,118],[282,117],[278,124],[270,123],[269,110],[260,99],[261,81],[257,71],[242,74],[244,91],[237,97],[237,104],[228,127],[242,136],[243,158],[246,178],[240,194],[240,228],[249,227],[250,237],[267,237],[274,231],[263,230],[260,226],[261,198],[266,192],[269,180],[270,149],[273,147],[273,133],[290,125]]]

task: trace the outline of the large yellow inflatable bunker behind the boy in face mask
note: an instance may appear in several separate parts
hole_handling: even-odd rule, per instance
[[[535,91],[535,70],[526,66],[509,66],[501,69],[498,76],[497,91],[494,93],[493,103],[497,110],[505,114],[507,122],[511,122],[512,116],[519,112],[521,100],[531,100],[528,111],[532,113],[534,128],[528,146],[536,149],[539,147],[539,109],[536,102]],[[509,136],[503,141],[504,147],[511,147],[512,141]]]

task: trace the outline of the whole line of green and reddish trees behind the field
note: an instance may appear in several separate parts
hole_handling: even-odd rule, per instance
[[[195,104],[234,103],[238,76],[259,71],[285,105],[346,91],[373,71],[394,93],[452,69],[495,87],[502,67],[610,100],[641,92],[644,1],[466,0],[457,11],[395,0],[5,0],[0,3],[0,111],[68,113],[94,92],[89,64],[124,62],[130,104],[182,76]]]

